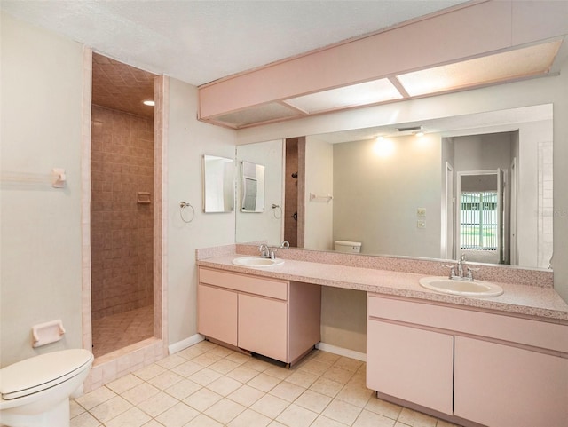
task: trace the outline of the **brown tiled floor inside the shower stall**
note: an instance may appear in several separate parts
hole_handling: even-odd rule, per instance
[[[152,336],[154,336],[152,305],[92,320],[92,352],[95,357]]]

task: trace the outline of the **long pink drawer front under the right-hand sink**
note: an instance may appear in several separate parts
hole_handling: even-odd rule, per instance
[[[568,325],[367,294],[367,315],[568,352]]]

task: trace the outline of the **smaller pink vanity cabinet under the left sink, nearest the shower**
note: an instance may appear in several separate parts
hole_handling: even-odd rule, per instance
[[[321,288],[199,267],[198,332],[291,364],[319,343]]]

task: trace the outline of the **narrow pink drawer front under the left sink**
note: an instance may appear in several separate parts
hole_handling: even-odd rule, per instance
[[[199,281],[220,288],[238,290],[249,294],[288,300],[288,281],[248,276],[241,273],[227,273],[209,268],[199,268]]]

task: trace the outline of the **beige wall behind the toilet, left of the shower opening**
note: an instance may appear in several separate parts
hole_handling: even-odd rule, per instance
[[[64,189],[2,183],[1,365],[82,347],[81,120],[83,48],[2,13],[2,171],[49,175]],[[36,323],[60,319],[56,344],[31,346]]]

